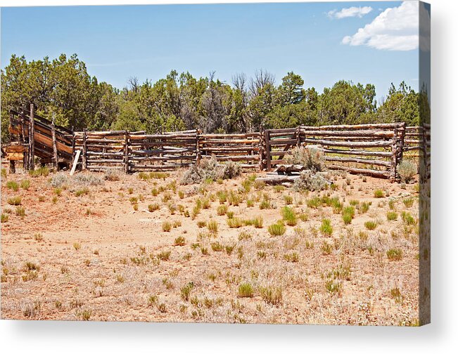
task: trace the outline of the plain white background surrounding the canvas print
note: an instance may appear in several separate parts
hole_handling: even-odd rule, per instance
[[[133,4],[159,2],[196,1],[132,1]],[[1,320],[1,352],[458,353],[458,188],[457,157],[453,151],[458,132],[458,6],[457,1],[430,2],[433,121],[431,325],[403,328]],[[94,5],[128,4],[129,1],[0,0],[1,6],[26,6],[38,3]]]

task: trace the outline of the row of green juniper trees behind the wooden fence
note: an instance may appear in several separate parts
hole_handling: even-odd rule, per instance
[[[91,77],[76,54],[28,61],[12,55],[1,70],[1,142],[8,141],[9,110],[33,102],[37,113],[75,130],[129,130],[159,133],[201,129],[236,133],[300,124],[419,124],[419,93],[402,82],[376,102],[373,84],[338,81],[322,93],[305,88],[288,72],[276,84],[265,70],[254,77],[235,74],[228,84],[172,70],[156,82],[129,78],[117,89]]]

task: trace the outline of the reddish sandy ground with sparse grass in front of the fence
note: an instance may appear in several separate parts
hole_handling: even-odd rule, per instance
[[[1,223],[1,318],[418,324],[416,185],[351,175],[333,176],[336,190],[322,192],[252,184],[250,192],[239,193],[243,202],[229,211],[235,218],[262,216],[262,228],[229,228],[227,216],[217,215],[215,194],[241,190],[248,174],[200,190],[178,184],[175,192],[170,183],[177,173],[147,181],[138,174],[121,176],[120,181],[89,186],[79,197],[75,192],[83,187],[73,183],[57,196],[53,176],[16,173],[2,178],[1,208],[8,221]],[[6,186],[25,179],[28,190]],[[151,190],[161,186],[166,190],[153,196]],[[384,197],[374,197],[376,189]],[[164,195],[171,199],[164,201]],[[264,195],[272,209],[260,209]],[[281,219],[286,195],[293,197],[290,206],[303,218],[286,225],[284,235],[272,236],[268,226]],[[371,206],[365,213],[356,210],[345,225],[331,206],[307,206],[307,200],[325,195],[339,197],[345,206],[350,200]],[[15,196],[22,197],[24,217],[8,204]],[[132,197],[139,199],[137,211]],[[183,210],[192,214],[198,198],[213,201],[196,218],[184,216]],[[414,199],[412,206],[404,204],[408,198]],[[248,207],[246,199],[254,206]],[[148,211],[154,203],[160,209]],[[182,205],[182,212],[171,214],[170,203]],[[397,213],[395,221],[387,220],[390,207]],[[402,211],[412,214],[413,225],[402,220]],[[319,230],[323,218],[331,219],[331,235]],[[164,221],[177,223],[167,232]],[[199,221],[216,221],[216,235],[199,228]],[[367,230],[366,221],[376,221],[376,228]],[[177,237],[184,237],[184,245],[175,245]],[[389,259],[390,249],[400,249],[400,259]],[[250,297],[241,296],[241,284],[249,284]]]

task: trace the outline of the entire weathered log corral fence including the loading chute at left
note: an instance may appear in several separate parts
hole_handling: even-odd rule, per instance
[[[423,143],[430,141],[428,127],[407,127],[405,123],[298,126],[238,134],[70,131],[37,116],[33,105],[30,110],[11,110],[9,130],[17,141],[2,146],[2,151],[10,161],[22,161],[25,169],[34,168],[37,156],[42,163],[56,166],[76,160],[83,170],[126,173],[170,171],[211,156],[221,164],[233,161],[244,169],[271,171],[284,164],[284,156],[293,147],[313,146],[324,153],[329,169],[395,181],[404,153],[423,149],[421,155],[428,160],[431,146]]]

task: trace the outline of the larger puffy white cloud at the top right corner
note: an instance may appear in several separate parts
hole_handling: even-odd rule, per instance
[[[374,20],[342,39],[350,46],[370,46],[387,51],[412,51],[419,46],[419,3],[404,1],[387,8]]]

